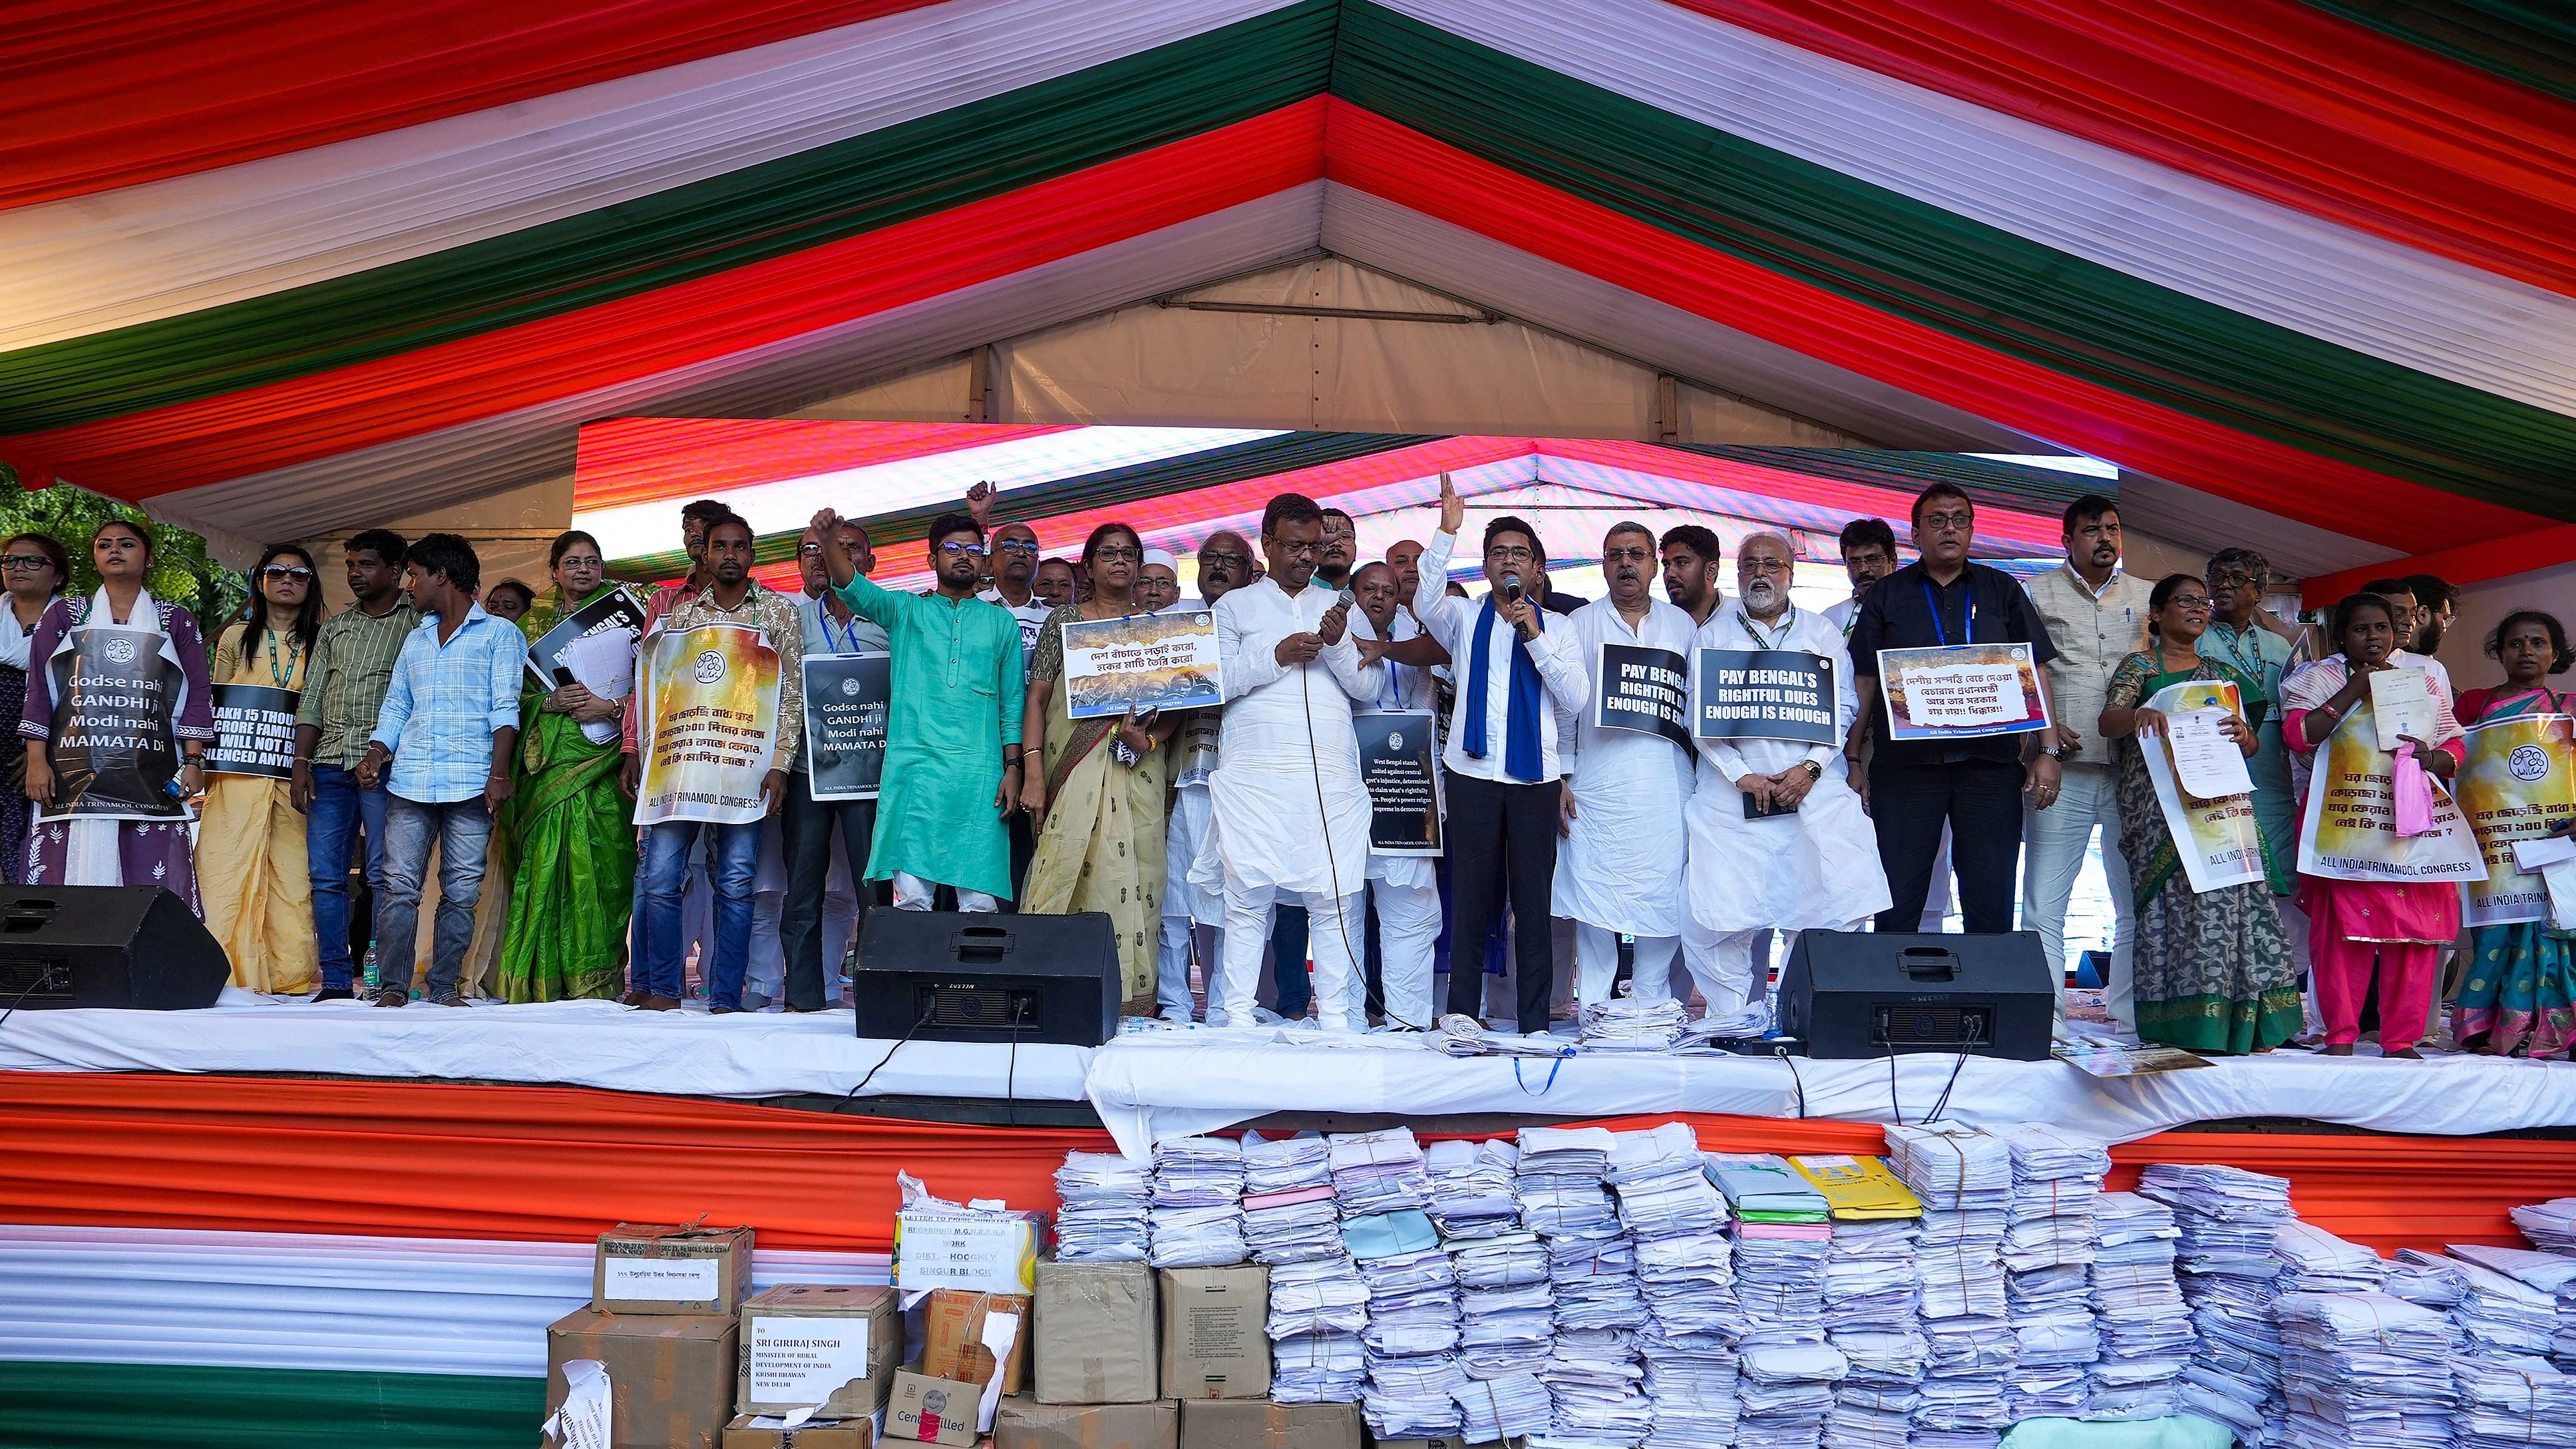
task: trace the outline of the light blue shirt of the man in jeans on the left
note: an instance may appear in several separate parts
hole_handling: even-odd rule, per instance
[[[438,642],[438,619],[422,619],[394,657],[394,683],[376,712],[374,743],[394,750],[386,789],[420,804],[453,804],[482,794],[492,776],[492,732],[518,730],[518,681],[528,670],[528,637],[482,611]]]

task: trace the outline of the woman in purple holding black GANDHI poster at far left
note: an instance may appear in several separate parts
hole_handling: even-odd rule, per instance
[[[204,915],[180,799],[206,792],[204,755],[214,740],[206,637],[193,614],[144,588],[152,536],[139,523],[100,523],[90,534],[90,565],[98,590],[49,603],[28,639],[26,709],[18,714],[26,794],[54,820],[28,833],[26,882],[157,884]],[[93,657],[90,647],[100,652]],[[85,719],[80,699],[57,699],[57,676],[75,681],[82,668],[131,681],[137,688],[126,699],[149,694],[152,704],[118,714],[111,701]],[[103,724],[142,745],[62,740],[57,724]]]

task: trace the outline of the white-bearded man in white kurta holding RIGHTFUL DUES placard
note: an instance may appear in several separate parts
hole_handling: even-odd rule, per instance
[[[1852,660],[1837,629],[1788,598],[1788,539],[1754,534],[1736,549],[1734,601],[1710,614],[1698,650],[1795,650],[1834,670],[1834,740],[1700,740],[1700,789],[1690,797],[1690,910],[1716,931],[1716,972],[1700,977],[1710,1016],[1741,1011],[1754,995],[1757,931],[1857,931],[1888,908],[1878,835],[1842,768],[1839,740],[1852,727]],[[1692,683],[1692,699],[1698,686]],[[1744,817],[1759,792],[1790,815]],[[1783,936],[1783,959],[1788,959]]]

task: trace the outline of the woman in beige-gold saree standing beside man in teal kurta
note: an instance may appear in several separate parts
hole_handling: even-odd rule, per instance
[[[1159,745],[1180,719],[1136,719],[1133,712],[1074,719],[1066,712],[1064,627],[1141,614],[1133,588],[1144,541],[1126,523],[1103,523],[1082,544],[1082,562],[1092,596],[1046,616],[1028,663],[1020,745],[1046,768],[1020,781],[1020,804],[1038,820],[1020,910],[1105,910],[1118,933],[1126,1011],[1154,1016],[1164,841]]]

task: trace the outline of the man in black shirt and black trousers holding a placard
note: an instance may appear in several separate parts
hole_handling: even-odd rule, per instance
[[[1917,562],[1878,580],[1852,616],[1852,683],[1860,712],[1844,755],[1862,784],[1878,828],[1878,864],[1888,871],[1880,931],[1914,931],[1932,890],[1932,859],[1950,828],[1950,866],[1968,931],[2012,931],[2014,864],[2022,853],[2022,784],[2045,810],[2058,794],[2058,748],[2045,732],[1976,740],[1891,743],[1878,701],[1878,650],[1927,645],[2030,645],[2032,665],[2056,647],[2022,585],[2002,570],[1968,562],[1976,505],[1947,482],[1914,500]],[[2038,670],[2048,699],[2048,670]],[[2053,706],[2050,706],[2053,709]]]

